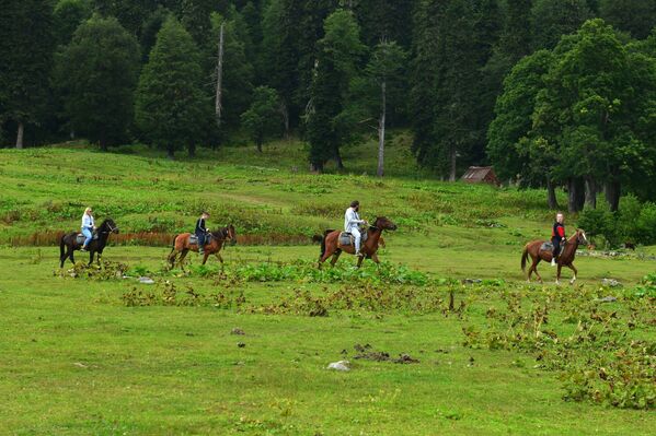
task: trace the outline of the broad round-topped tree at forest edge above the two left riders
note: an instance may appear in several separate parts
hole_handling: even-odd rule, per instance
[[[114,17],[81,24],[57,57],[56,82],[73,131],[101,150],[125,139],[133,120],[139,46]]]

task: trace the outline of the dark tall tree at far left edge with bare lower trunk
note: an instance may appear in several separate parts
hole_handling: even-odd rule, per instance
[[[49,0],[11,0],[0,13],[0,125],[16,126],[16,149],[25,125],[38,123],[48,101],[55,39]]]

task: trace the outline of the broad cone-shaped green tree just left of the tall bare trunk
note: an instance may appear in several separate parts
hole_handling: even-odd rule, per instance
[[[166,150],[171,158],[184,145],[193,155],[199,131],[209,125],[202,81],[194,39],[177,20],[169,17],[139,78],[136,121],[147,141]]]

